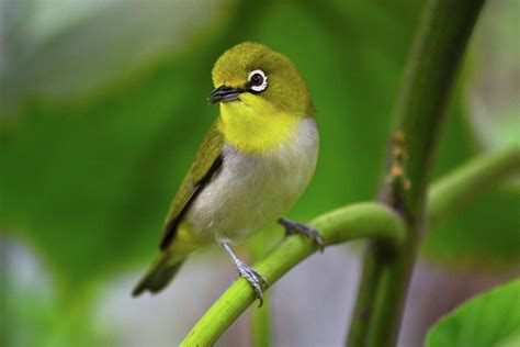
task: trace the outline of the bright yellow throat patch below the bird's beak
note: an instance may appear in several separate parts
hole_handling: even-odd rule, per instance
[[[251,94],[221,103],[219,128],[227,142],[247,153],[267,153],[290,141],[302,116],[276,110]]]

